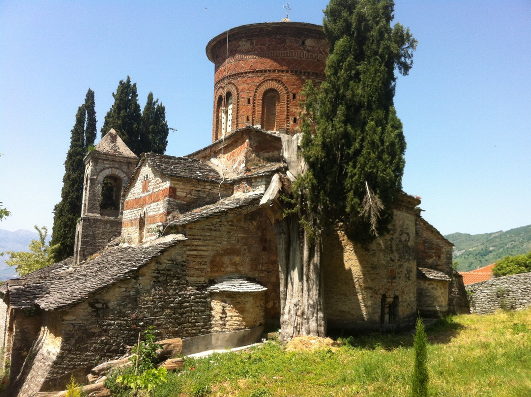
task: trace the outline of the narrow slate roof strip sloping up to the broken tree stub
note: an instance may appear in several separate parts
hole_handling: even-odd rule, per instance
[[[221,213],[227,213],[232,210],[245,208],[247,206],[258,208],[260,204],[260,199],[262,198],[264,192],[251,192],[251,193],[236,193],[230,197],[226,197],[223,200],[220,200],[214,204],[204,205],[195,210],[185,212],[184,214],[179,214],[174,212],[168,216],[170,225],[183,226],[188,223],[197,222],[203,219],[213,217]]]

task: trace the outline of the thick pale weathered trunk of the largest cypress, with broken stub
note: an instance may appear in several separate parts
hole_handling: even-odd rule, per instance
[[[260,205],[268,214],[277,238],[280,278],[280,341],[299,335],[326,335],[321,277],[321,235],[310,236],[297,214],[284,217],[278,198],[282,182],[271,180]]]

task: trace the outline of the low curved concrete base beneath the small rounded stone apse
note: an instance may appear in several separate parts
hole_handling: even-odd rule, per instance
[[[264,327],[263,325],[234,332],[220,332],[183,339],[184,356],[199,353],[207,350],[232,349],[240,346],[247,346],[260,341]]]

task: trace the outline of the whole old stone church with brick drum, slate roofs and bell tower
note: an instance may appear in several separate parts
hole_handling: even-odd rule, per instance
[[[212,143],[186,157],[136,157],[111,130],[85,157],[75,252],[0,287],[0,347],[14,395],[64,390],[155,327],[183,354],[244,346],[278,330],[277,239],[262,197],[297,175],[306,80],[322,82],[319,25],[243,25],[210,40]],[[205,132],[207,133],[207,132]],[[261,205],[262,201],[262,205]],[[369,247],[323,238],[329,330],[387,330],[464,308],[452,244],[402,194]]]

